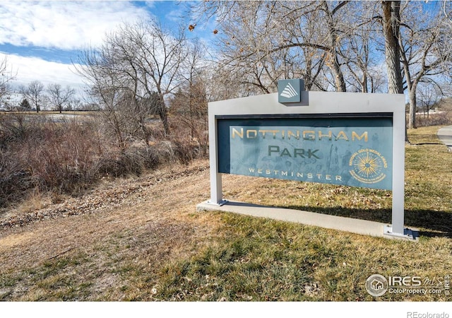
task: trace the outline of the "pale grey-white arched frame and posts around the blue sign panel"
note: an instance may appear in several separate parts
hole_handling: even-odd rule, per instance
[[[222,197],[222,174],[218,172],[218,117],[228,115],[284,114],[362,114],[393,115],[393,181],[392,225],[385,235],[407,237],[404,227],[405,204],[405,95],[375,93],[335,93],[302,91],[301,102],[282,104],[278,93],[220,100],[208,104],[210,200],[208,204],[225,204]]]

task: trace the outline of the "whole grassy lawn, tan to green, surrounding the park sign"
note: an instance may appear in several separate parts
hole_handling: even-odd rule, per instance
[[[120,181],[136,190],[97,213],[0,229],[0,300],[450,301],[374,298],[364,286],[375,273],[434,285],[452,274],[452,153],[438,128],[408,131],[405,225],[420,229],[417,243],[196,213],[208,197],[204,160]],[[223,190],[237,201],[391,222],[391,192],[381,190],[231,175]]]

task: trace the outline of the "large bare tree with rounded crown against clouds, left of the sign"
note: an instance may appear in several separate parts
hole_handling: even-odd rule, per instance
[[[133,120],[144,136],[145,119],[150,114],[160,117],[163,131],[169,134],[165,96],[181,83],[185,42],[182,30],[172,35],[155,21],[124,23],[105,37],[102,47],[83,52],[79,73],[95,84],[95,92],[107,90],[122,95],[136,114]],[[155,98],[155,93],[160,97]]]

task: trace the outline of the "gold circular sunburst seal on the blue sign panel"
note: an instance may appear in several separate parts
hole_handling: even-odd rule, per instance
[[[360,149],[353,153],[349,162],[350,175],[359,182],[374,184],[386,177],[385,170],[388,167],[386,159],[374,149]]]

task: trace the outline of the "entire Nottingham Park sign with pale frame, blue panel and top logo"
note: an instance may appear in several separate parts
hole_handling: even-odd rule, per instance
[[[225,173],[388,189],[385,234],[405,237],[404,95],[306,92],[302,80],[278,86],[278,93],[209,103],[208,204],[227,204]]]

